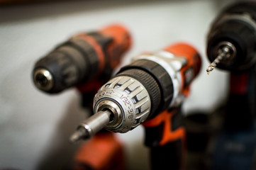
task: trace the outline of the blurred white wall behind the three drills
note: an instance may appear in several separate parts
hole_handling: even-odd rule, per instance
[[[212,111],[226,98],[228,74],[206,74],[206,34],[229,1],[63,1],[0,7],[0,169],[38,169],[69,164],[77,146],[68,137],[86,118],[74,89],[58,96],[41,93],[31,81],[33,64],[55,45],[81,31],[123,23],[133,47],[123,60],[177,41],[201,53],[201,74],[184,103],[185,113]],[[126,146],[127,169],[148,169],[143,128],[118,135]],[[139,150],[139,152],[138,152]]]

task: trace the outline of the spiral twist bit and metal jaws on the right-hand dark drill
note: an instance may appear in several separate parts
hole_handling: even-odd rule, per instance
[[[218,50],[218,56],[216,59],[207,67],[206,72],[207,74],[210,74],[211,71],[223,60],[223,59],[228,59],[231,54],[233,49],[230,48],[228,45],[224,45],[221,49]]]

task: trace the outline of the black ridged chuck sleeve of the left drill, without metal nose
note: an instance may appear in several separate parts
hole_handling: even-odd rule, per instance
[[[76,56],[75,59],[72,56]],[[82,70],[79,67],[85,64],[84,61],[79,62],[81,58],[82,54],[79,51],[65,45],[39,60],[35,64],[34,72],[41,68],[47,69],[53,78],[52,89],[47,92],[58,93],[81,79]]]

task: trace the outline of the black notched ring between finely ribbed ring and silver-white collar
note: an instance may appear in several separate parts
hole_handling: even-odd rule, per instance
[[[172,84],[172,79],[169,77],[167,71],[156,62],[152,62],[151,60],[136,60],[132,62],[126,67],[123,67],[120,71],[124,72],[128,69],[140,69],[155,79],[157,82],[157,86],[160,89],[160,104],[157,106],[157,111],[151,113],[150,118],[155,117],[157,113],[164,111],[168,108],[169,104],[172,101],[174,87]],[[140,79],[140,77],[138,77]],[[154,86],[153,86],[154,87]]]

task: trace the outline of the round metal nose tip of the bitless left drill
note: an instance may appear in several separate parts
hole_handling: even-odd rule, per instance
[[[47,69],[36,69],[33,75],[33,81],[38,89],[43,91],[49,91],[52,89],[52,74]]]

